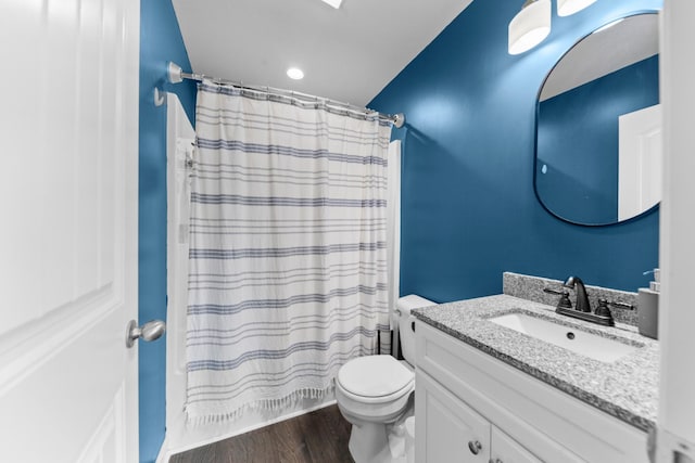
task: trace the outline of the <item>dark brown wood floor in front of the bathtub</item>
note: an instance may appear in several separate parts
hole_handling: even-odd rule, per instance
[[[169,463],[354,463],[349,439],[350,423],[332,406],[177,453]]]

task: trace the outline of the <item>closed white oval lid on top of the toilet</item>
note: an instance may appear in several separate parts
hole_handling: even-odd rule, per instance
[[[338,371],[340,385],[356,396],[394,394],[415,380],[410,370],[391,356],[366,356],[350,360]]]

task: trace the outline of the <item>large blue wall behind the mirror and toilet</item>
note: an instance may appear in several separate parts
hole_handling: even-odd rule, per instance
[[[369,104],[407,119],[394,130],[404,142],[402,294],[495,294],[504,271],[634,291],[658,262],[658,213],[599,228],[549,215],[533,191],[533,146],[536,94],[553,64],[598,26],[661,1],[553,11],[551,36],[511,56],[507,28],[521,3],[475,0]]]

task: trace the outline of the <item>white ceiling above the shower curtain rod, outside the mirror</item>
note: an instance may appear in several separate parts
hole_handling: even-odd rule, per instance
[[[365,105],[471,1],[173,3],[194,73]],[[291,66],[303,80],[287,77]]]

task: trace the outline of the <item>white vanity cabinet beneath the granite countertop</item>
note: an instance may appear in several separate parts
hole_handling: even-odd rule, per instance
[[[418,463],[648,462],[643,430],[416,323]]]

